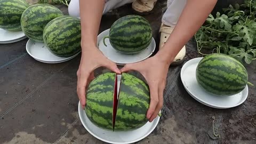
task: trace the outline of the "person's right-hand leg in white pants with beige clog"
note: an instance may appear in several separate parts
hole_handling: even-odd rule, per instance
[[[172,33],[173,28],[177,24],[180,14],[183,11],[187,0],[168,0],[167,1],[167,10],[162,18],[162,25],[159,30],[161,33],[159,49],[161,49],[164,43],[169,38]],[[183,46],[177,56],[174,58],[171,65],[179,65],[186,55],[186,46]]]

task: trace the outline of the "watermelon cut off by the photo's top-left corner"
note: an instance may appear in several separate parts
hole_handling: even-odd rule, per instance
[[[0,28],[9,31],[21,30],[21,14],[27,7],[29,7],[29,4],[25,0],[1,0]]]

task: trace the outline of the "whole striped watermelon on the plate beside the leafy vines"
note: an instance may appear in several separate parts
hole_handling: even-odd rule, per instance
[[[206,55],[197,65],[196,79],[211,94],[229,96],[244,90],[248,74],[235,58],[222,53]]]

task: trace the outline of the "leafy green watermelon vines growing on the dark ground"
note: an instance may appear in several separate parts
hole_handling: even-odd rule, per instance
[[[202,55],[208,55],[205,50],[225,53],[250,64],[256,60],[255,14],[256,1],[253,0],[245,0],[242,5],[229,5],[215,17],[210,14],[195,34],[197,52]]]

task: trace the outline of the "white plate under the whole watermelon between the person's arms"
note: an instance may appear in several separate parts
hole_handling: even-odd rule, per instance
[[[155,51],[156,43],[155,39],[152,37],[152,41],[147,49],[141,51],[137,54],[122,54],[116,51],[111,44],[109,43],[109,39],[105,39],[105,43],[107,46],[103,44],[103,37],[109,35],[109,30],[107,29],[98,35],[98,47],[99,50],[111,61],[115,62],[117,65],[124,66],[126,63],[134,63],[147,59],[150,55]]]

